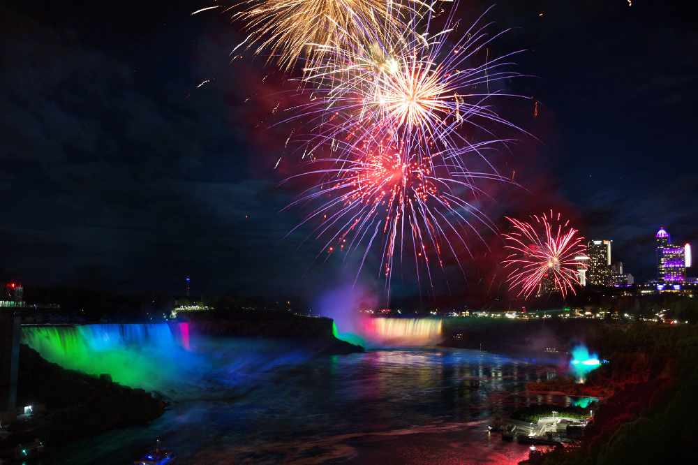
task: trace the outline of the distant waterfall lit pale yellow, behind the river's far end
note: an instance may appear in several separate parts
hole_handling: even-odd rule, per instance
[[[371,318],[366,338],[383,346],[429,346],[441,341],[443,322],[433,318]]]

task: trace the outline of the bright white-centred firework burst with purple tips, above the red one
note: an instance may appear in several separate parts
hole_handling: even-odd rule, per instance
[[[512,95],[480,89],[518,77],[508,71],[513,65],[510,57],[518,52],[470,65],[478,52],[506,31],[489,36],[489,24],[481,24],[480,17],[447,47],[447,36],[456,27],[452,13],[447,28],[432,36],[429,31],[418,34],[417,25],[410,22],[401,31],[383,33],[366,27],[342,43],[316,45],[323,59],[305,68],[302,82],[320,98],[291,108],[294,114],[281,122],[306,121],[309,136],[304,150],[311,152],[331,140],[351,138],[355,143],[346,152],[350,158],[353,149],[370,140],[378,128],[392,135],[394,142],[425,147],[427,159],[437,154],[450,159],[460,171],[465,170],[463,147],[469,147],[468,153],[476,147],[463,132],[482,131],[491,143],[506,142],[496,138],[491,124],[525,132],[489,104],[493,96]]]

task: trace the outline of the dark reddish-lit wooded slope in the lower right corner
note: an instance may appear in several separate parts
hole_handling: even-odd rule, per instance
[[[660,464],[685,459],[698,435],[698,327],[602,327],[595,341],[609,360],[586,392],[608,397],[577,448],[532,454],[528,465]]]

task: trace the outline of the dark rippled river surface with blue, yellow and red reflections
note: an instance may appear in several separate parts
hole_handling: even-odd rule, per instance
[[[501,355],[439,348],[272,364],[235,399],[211,397],[202,387],[200,399],[177,401],[151,425],[84,441],[60,458],[128,463],[160,437],[181,463],[367,463],[389,455],[403,463],[467,457],[514,464],[528,449],[488,441],[487,422],[546,401],[526,396],[525,385],[547,371]]]

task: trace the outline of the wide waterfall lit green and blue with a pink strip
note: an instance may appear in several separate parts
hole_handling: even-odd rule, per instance
[[[173,399],[237,394],[312,355],[289,341],[196,336],[188,323],[25,326],[22,342],[61,367]]]

